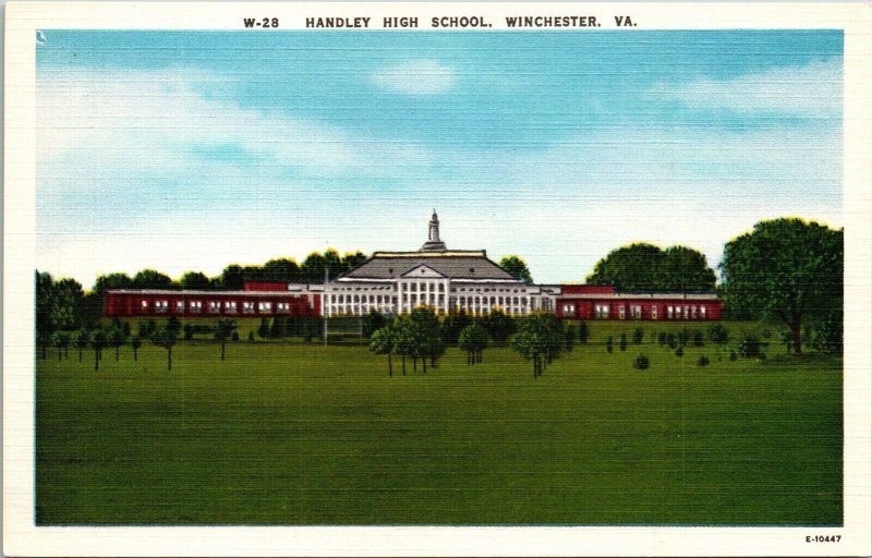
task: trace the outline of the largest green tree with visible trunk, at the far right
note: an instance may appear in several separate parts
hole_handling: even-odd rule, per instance
[[[814,221],[775,219],[726,244],[720,264],[725,304],[776,318],[802,354],[802,325],[839,311],[844,232]]]

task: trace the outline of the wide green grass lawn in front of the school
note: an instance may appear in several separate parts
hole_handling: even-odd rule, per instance
[[[841,361],[593,339],[387,376],[364,347],[37,361],[38,524],[839,524]],[[735,335],[741,327],[728,325]],[[657,326],[658,329],[662,329]],[[617,342],[617,337],[616,337]],[[640,353],[649,371],[633,369]],[[712,363],[697,366],[699,355]],[[718,357],[719,356],[719,357]]]

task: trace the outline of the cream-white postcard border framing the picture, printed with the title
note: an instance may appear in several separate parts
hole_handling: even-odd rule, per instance
[[[836,28],[845,32],[844,527],[35,527],[33,270],[35,32],[46,28],[241,29],[252,14],[305,16],[631,14],[637,29]],[[40,556],[868,556],[872,554],[872,8],[861,3],[20,3],[5,12],[3,551]],[[535,29],[529,29],[535,31]],[[566,29],[553,29],[566,33]],[[623,29],[633,33],[633,29]],[[443,31],[450,33],[451,31]],[[487,31],[481,31],[487,33]],[[595,31],[580,31],[595,33]],[[255,31],[252,33],[269,33]],[[313,31],[317,33],[317,31]],[[348,33],[356,33],[348,31]],[[524,33],[524,31],[518,31]],[[838,544],[807,535],[840,534]]]

